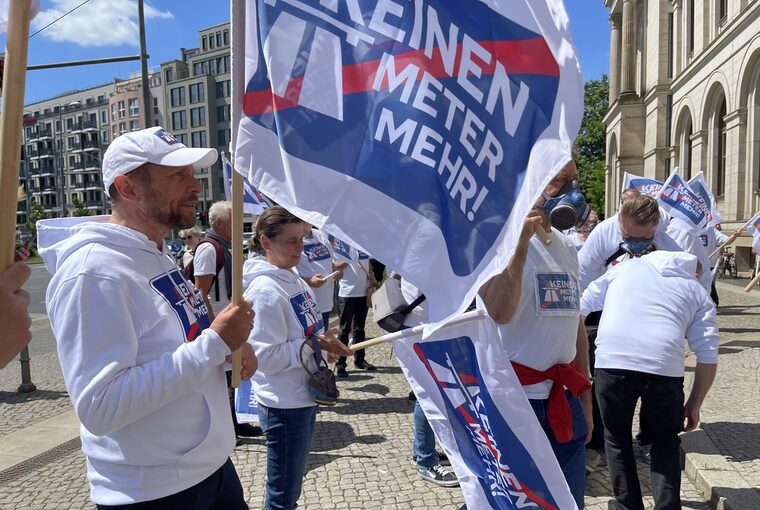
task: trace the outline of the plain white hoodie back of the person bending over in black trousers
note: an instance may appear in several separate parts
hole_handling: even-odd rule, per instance
[[[694,277],[696,268],[694,255],[655,251],[592,282],[581,314],[604,308],[595,366],[682,377],[684,337],[697,362],[717,363],[715,305]]]

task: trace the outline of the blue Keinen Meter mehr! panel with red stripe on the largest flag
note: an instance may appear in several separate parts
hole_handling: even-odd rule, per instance
[[[247,118],[289,156],[423,215],[471,274],[553,121],[560,66],[542,34],[481,1],[256,6]]]

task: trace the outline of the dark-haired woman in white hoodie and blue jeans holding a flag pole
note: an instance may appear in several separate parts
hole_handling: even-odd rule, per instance
[[[296,507],[314,434],[317,407],[309,392],[315,370],[315,339],[326,352],[351,351],[324,332],[312,290],[295,273],[303,251],[303,222],[286,209],[267,209],[256,222],[253,248],[265,257],[246,261],[243,285],[256,313],[248,341],[259,368],[252,379],[259,402],[259,420],[266,435],[266,510]]]

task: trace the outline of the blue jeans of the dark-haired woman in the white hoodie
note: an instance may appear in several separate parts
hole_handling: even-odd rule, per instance
[[[259,404],[259,422],[267,445],[265,510],[298,506],[316,419],[316,406],[277,409]]]

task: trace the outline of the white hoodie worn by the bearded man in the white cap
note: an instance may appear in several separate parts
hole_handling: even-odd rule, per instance
[[[203,299],[172,258],[107,220],[46,220],[37,232],[91,498],[124,505],[192,487],[226,462],[230,350],[204,329]]]

